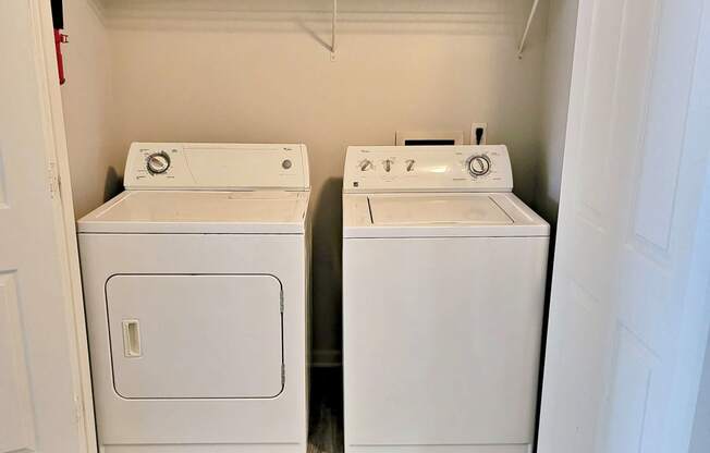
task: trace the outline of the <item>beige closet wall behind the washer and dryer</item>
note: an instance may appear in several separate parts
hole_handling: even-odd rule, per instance
[[[323,0],[106,1],[107,53],[105,32],[95,33],[98,41],[94,34],[74,37],[68,14],[72,51],[86,48],[85,60],[102,56],[90,64],[68,59],[68,73],[75,86],[78,72],[81,78],[101,78],[110,68],[110,91],[98,81],[87,89],[64,88],[79,213],[100,203],[108,166],[122,172],[132,140],[308,146],[314,344],[320,362],[339,359],[345,147],[393,144],[396,130],[467,131],[474,121],[488,122],[489,143],[510,147],[516,193],[534,200],[547,17],[543,2],[518,60],[517,39],[530,2],[341,0],[331,61],[329,5]],[[86,26],[87,34],[93,27]],[[106,159],[103,168],[99,158]]]

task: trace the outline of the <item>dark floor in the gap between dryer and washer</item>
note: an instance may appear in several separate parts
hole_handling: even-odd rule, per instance
[[[309,414],[308,453],[342,453],[342,368],[311,368]]]

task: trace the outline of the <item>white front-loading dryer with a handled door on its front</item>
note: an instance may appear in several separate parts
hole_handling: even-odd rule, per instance
[[[134,143],[124,184],[78,221],[100,450],[304,453],[306,147]]]

